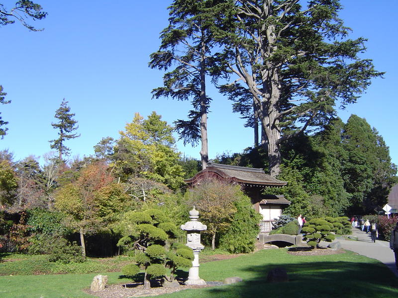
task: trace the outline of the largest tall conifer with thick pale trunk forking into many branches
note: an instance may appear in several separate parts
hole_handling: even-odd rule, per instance
[[[250,90],[259,107],[272,176],[280,145],[328,121],[334,106],[355,103],[382,73],[358,54],[365,38],[348,39],[338,0],[234,0],[220,67]]]

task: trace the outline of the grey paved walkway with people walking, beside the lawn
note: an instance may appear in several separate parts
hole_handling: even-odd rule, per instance
[[[352,229],[353,236],[358,237],[358,241],[337,239],[341,243],[341,247],[347,250],[352,250],[358,254],[379,260],[386,264],[387,267],[398,277],[398,272],[395,266],[394,252],[390,249],[390,243],[376,239],[372,242],[370,232],[361,231],[359,228]]]

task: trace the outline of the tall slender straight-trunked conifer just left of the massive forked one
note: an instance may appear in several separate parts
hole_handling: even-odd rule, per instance
[[[206,74],[213,66],[216,24],[224,1],[174,0],[169,6],[169,26],[161,33],[159,51],[152,53],[149,66],[170,72],[164,86],[152,91],[153,97],[191,100],[189,120],[177,120],[176,129],[184,145],[201,142],[202,168],[207,166],[207,113],[211,99],[206,95]]]

